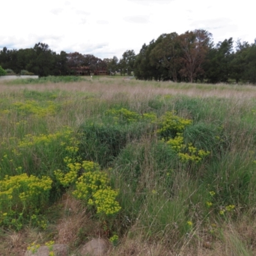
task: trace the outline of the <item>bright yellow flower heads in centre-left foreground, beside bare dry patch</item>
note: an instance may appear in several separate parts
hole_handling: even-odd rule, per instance
[[[54,174],[63,186],[70,186],[76,181],[72,195],[83,200],[89,208],[95,208],[100,218],[115,216],[120,211],[121,207],[115,200],[118,191],[111,189],[107,174],[100,171],[99,164],[92,161],[73,164],[67,161],[67,166],[70,168],[68,173],[64,174],[61,170],[57,170]],[[83,172],[80,177],[78,177],[79,171]]]

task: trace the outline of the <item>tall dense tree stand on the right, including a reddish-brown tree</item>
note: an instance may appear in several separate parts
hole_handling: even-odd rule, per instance
[[[163,34],[141,47],[134,63],[138,79],[256,83],[256,39],[253,44],[225,39],[214,45],[208,31]]]

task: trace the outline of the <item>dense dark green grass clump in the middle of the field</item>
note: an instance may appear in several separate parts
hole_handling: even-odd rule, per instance
[[[136,116],[139,115],[136,114]],[[98,120],[93,122],[91,119],[81,125],[79,132],[82,138],[79,154],[83,159],[95,161],[107,167],[129,141],[137,140],[153,131],[154,124],[144,122],[143,118],[138,122],[134,120],[131,122],[131,118],[124,120],[124,116],[120,118],[107,115],[102,116],[101,122]]]

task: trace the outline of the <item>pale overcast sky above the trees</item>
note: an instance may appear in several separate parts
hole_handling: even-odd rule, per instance
[[[163,33],[205,29],[214,42],[256,38],[252,0],[12,0],[0,4],[0,49],[48,44],[52,51],[120,58]]]

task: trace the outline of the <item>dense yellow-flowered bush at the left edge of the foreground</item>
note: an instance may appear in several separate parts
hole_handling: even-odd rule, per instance
[[[19,230],[23,219],[40,213],[49,204],[52,180],[26,173],[0,180],[0,225]]]

